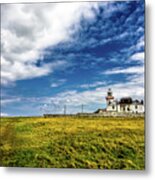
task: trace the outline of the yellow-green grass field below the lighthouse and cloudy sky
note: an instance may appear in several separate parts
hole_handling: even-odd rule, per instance
[[[2,118],[0,165],[145,168],[144,118]]]

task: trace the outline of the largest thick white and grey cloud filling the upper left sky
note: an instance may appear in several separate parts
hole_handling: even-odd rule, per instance
[[[43,50],[68,41],[79,28],[81,17],[94,18],[92,7],[97,8],[97,3],[2,5],[2,84],[52,72],[51,62],[42,63],[40,67],[36,65],[39,59],[43,60]]]

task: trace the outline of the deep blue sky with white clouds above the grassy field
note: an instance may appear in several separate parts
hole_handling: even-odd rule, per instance
[[[1,115],[94,112],[144,100],[144,2],[1,6]]]

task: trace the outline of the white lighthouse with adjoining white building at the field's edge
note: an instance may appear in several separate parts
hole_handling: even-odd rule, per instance
[[[115,100],[111,89],[108,90],[106,96],[108,112],[128,112],[128,113],[144,113],[143,100],[132,100],[131,97],[121,98],[120,101]]]

